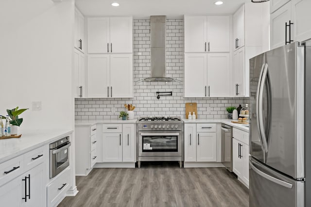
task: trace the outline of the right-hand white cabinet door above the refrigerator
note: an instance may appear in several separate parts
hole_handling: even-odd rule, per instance
[[[311,38],[311,0],[292,0],[295,41],[303,42]]]

